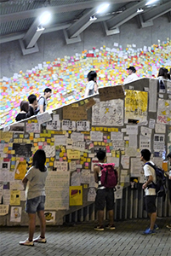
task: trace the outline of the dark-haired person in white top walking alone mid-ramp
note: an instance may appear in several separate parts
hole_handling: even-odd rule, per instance
[[[97,93],[97,73],[95,71],[90,71],[88,73],[88,84],[86,85],[85,95],[84,97],[93,95],[94,93]]]

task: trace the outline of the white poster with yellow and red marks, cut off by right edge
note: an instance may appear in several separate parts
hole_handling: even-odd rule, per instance
[[[157,123],[171,125],[171,101],[158,99]]]

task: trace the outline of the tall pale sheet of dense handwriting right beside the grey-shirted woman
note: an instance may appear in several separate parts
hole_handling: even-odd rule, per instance
[[[69,209],[70,172],[48,172],[45,210]]]

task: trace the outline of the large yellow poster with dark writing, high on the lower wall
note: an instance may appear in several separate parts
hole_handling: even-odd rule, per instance
[[[147,119],[148,92],[125,90],[125,123],[128,119],[144,122]]]

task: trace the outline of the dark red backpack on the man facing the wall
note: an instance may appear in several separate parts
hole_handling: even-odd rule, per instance
[[[114,189],[117,185],[117,170],[114,169],[115,164],[102,164],[98,166],[101,169],[101,185],[108,189]]]

